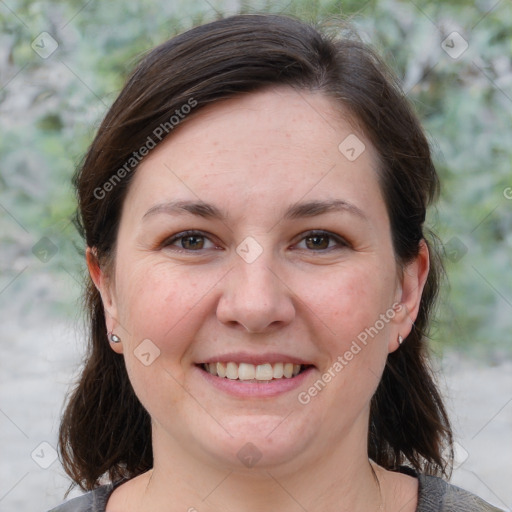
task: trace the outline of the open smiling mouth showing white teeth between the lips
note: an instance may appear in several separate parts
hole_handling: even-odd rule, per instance
[[[312,365],[293,363],[251,363],[217,362],[197,365],[215,377],[223,379],[251,382],[272,382],[281,379],[292,379]]]

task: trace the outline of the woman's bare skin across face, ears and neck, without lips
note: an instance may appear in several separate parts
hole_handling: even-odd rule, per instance
[[[338,150],[350,134],[366,148],[352,162]],[[375,466],[379,493],[367,458],[370,399],[398,335],[410,332],[428,273],[423,244],[405,269],[397,265],[376,162],[333,100],[291,88],[202,109],[142,162],[113,268],[87,253],[106,328],[122,340],[112,349],[153,424],[154,468],[118,487],[107,512],[368,512],[381,499],[388,512],[416,509],[417,480]],[[225,217],[147,214],[177,200]],[[285,217],[297,203],[325,200],[359,213]],[[185,230],[206,238],[169,241]],[[315,245],[311,230],[332,236]],[[251,263],[236,252],[246,237],[262,250]],[[301,404],[298,393],[393,304],[393,318]],[[160,350],[149,366],[134,354],[144,339]],[[198,375],[196,363],[238,351],[298,356],[314,368],[299,389],[271,398],[233,397]],[[237,457],[248,442],[262,455],[251,468]]]

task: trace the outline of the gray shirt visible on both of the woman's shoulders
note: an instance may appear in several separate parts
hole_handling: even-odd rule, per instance
[[[416,476],[419,480],[416,512],[502,512],[478,496],[450,485],[441,478],[427,475]],[[98,487],[49,512],[105,512],[112,491],[122,482]]]

